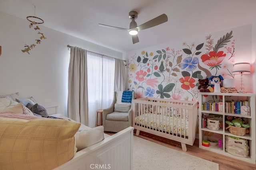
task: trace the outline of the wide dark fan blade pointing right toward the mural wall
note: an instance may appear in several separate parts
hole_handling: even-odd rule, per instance
[[[152,20],[149,20],[141,25],[139,25],[137,27],[138,31],[142,30],[142,29],[147,29],[147,28],[151,28],[151,27],[154,27],[156,25],[159,25],[161,23],[164,23],[168,21],[168,17],[166,16],[166,14],[162,14]]]

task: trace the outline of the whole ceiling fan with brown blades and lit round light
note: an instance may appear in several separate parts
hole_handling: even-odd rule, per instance
[[[130,27],[129,29],[126,28],[120,28],[120,27],[114,27],[114,26],[110,26],[110,25],[104,25],[99,23],[100,26],[102,27],[108,27],[108,28],[116,28],[116,29],[120,29],[120,30],[126,30],[129,31],[130,35],[132,35],[132,42],[133,44],[138,43],[139,42],[139,38],[138,38],[138,31],[141,31],[143,29],[147,29],[147,28],[151,28],[154,27],[156,25],[159,25],[161,23],[164,23],[166,21],[168,21],[168,18],[166,16],[166,14],[162,14],[152,20],[149,20],[139,26],[137,26],[137,23],[135,21],[136,18],[138,18],[138,13],[136,11],[131,11],[129,12],[129,18],[132,20],[130,22]]]

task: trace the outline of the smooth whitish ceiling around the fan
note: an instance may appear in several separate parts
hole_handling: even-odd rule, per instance
[[[120,52],[256,21],[256,0],[0,0],[0,11],[24,20],[34,15],[34,6],[44,26]],[[132,10],[138,25],[161,14],[168,22],[140,31],[136,44],[128,31],[98,25],[129,28]]]

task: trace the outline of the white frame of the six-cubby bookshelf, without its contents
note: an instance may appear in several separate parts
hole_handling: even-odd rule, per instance
[[[208,95],[208,97],[204,97],[204,95]],[[213,98],[222,98],[222,100],[219,99],[217,102],[222,102],[223,106],[225,106],[225,101],[226,100],[248,100],[250,102],[250,116],[243,116],[241,114],[236,114],[236,113],[228,113],[224,109],[223,112],[219,111],[208,111],[208,110],[203,110],[202,109],[202,104],[204,102],[207,102],[209,100],[209,97],[211,99]],[[208,129],[207,127],[202,128],[202,115],[203,114],[214,114],[214,115],[220,115],[222,118],[220,118],[220,121],[222,119],[223,121],[223,128],[220,128],[219,130],[211,130]],[[228,130],[225,130],[225,116],[237,116],[237,117],[243,117],[247,119],[247,123],[249,123],[250,128],[249,128],[249,133],[244,135],[244,136],[237,136],[232,133],[230,133]],[[199,148],[205,149],[205,150],[210,150],[212,152],[216,152],[219,154],[223,154],[226,156],[230,156],[232,158],[236,158],[239,160],[243,160],[246,162],[250,162],[253,164],[256,164],[256,126],[255,126],[255,94],[250,94],[250,93],[216,93],[216,92],[200,92],[199,93]],[[202,140],[207,140],[207,137],[204,135],[206,132],[212,132],[212,133],[217,133],[220,134],[219,136],[222,136],[222,149],[218,148],[217,146],[210,146],[210,147],[205,147],[202,145]],[[235,156],[232,154],[229,154],[225,150],[225,135],[230,135],[233,137],[239,137],[241,139],[247,139],[248,140],[248,145],[249,145],[249,156],[247,158]]]

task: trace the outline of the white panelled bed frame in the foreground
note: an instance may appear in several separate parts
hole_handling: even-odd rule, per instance
[[[55,109],[54,109],[55,107]],[[45,107],[49,115],[58,111],[58,106]],[[55,110],[50,112],[50,110]],[[54,170],[132,170],[133,169],[133,131],[128,127],[90,147],[76,152],[68,162]]]

